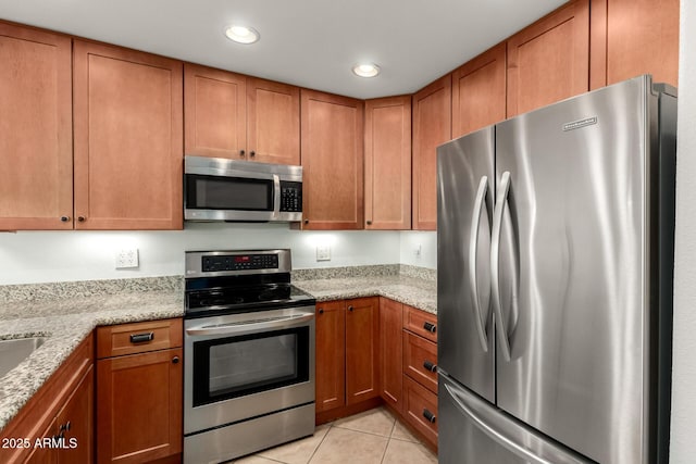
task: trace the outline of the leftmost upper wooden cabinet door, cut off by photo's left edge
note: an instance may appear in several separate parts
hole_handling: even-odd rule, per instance
[[[71,39],[0,23],[0,230],[72,229]]]

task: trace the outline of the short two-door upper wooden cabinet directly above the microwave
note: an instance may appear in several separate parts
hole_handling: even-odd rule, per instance
[[[300,164],[298,87],[184,66],[186,154]]]

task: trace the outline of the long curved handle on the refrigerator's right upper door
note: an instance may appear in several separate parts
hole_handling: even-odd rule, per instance
[[[493,213],[493,234],[490,238],[490,288],[493,309],[496,315],[496,327],[498,330],[498,340],[502,346],[502,355],[506,361],[510,361],[510,340],[508,339],[508,330],[506,329],[505,319],[502,318],[502,305],[500,303],[500,231],[502,229],[502,214],[508,203],[508,192],[510,191],[510,172],[502,173],[500,187],[498,189],[498,198]]]

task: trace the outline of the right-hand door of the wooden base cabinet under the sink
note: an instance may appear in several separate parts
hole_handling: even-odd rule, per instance
[[[65,447],[58,450],[59,464],[94,462],[95,369],[91,366],[58,414],[55,423]]]

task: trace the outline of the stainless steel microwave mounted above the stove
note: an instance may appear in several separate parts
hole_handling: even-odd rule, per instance
[[[186,221],[302,221],[302,166],[184,158]]]

